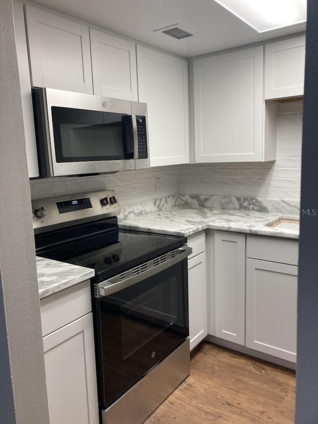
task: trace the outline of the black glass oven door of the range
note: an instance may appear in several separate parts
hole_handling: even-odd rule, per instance
[[[181,250],[181,249],[179,249]],[[96,299],[100,406],[106,409],[189,335],[186,255]],[[169,261],[167,261],[169,262]],[[165,265],[165,266],[164,266]],[[146,278],[145,278],[146,277]],[[128,279],[129,280],[129,279]],[[122,282],[125,285],[125,281]],[[127,285],[127,283],[126,283]]]

